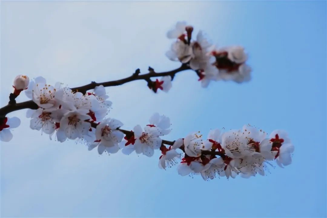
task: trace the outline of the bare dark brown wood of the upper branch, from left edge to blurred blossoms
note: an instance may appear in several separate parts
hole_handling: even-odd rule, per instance
[[[149,73],[139,75],[140,70],[137,69],[135,73],[129,77],[126,77],[124,79],[118,79],[118,80],[113,80],[113,81],[108,81],[108,82],[102,82],[102,83],[96,83],[96,82],[91,82],[90,84],[87,84],[85,86],[80,86],[80,87],[75,87],[71,88],[73,92],[82,92],[85,94],[88,90],[94,89],[96,86],[103,85],[104,87],[109,87],[109,86],[118,86],[122,85],[124,83],[128,83],[131,81],[135,80],[146,80],[149,81],[151,77],[158,77],[158,76],[167,76],[170,75],[172,78],[174,78],[175,74],[178,72],[184,71],[184,70],[190,70],[191,68],[187,64],[182,64],[181,67],[167,71],[167,72],[162,72],[162,73],[156,73],[154,70],[149,67]],[[21,109],[38,109],[38,105],[35,104],[32,100],[21,102],[21,103],[13,103],[13,101],[10,101],[8,105],[6,105],[3,108],[0,108],[0,119],[4,118],[8,113],[16,111],[16,110],[21,110]]]

